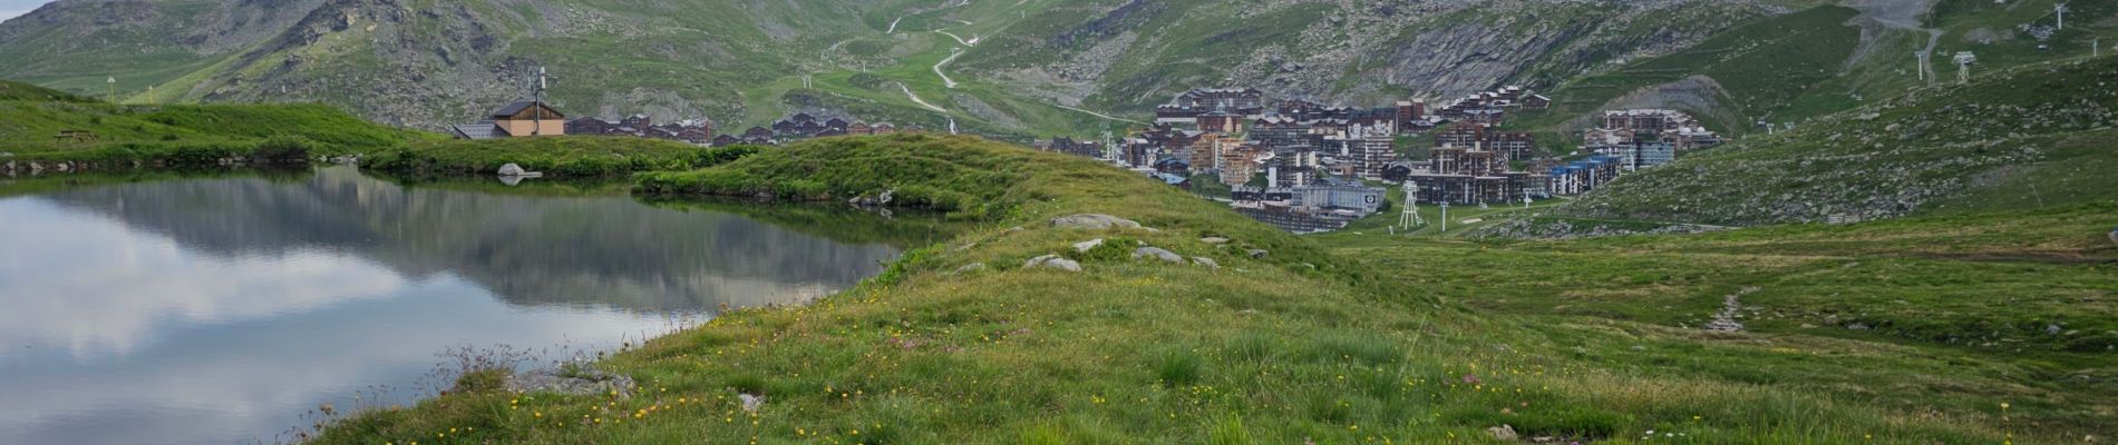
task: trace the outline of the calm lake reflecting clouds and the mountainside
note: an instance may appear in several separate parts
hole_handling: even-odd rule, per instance
[[[818,232],[349,169],[0,198],[0,443],[271,443],[447,348],[604,350],[898,255]]]

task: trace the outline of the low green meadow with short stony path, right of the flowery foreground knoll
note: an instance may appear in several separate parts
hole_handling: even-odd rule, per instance
[[[2035,424],[2080,441],[2107,437],[2118,409],[2118,249],[2103,238],[2114,209],[1701,236],[1324,243],[1472,308],[1519,314],[1591,367],[1970,413],[2004,430],[2014,422],[2018,439]],[[1756,289],[1741,297],[1747,333],[1697,331],[1745,287]],[[1999,403],[2016,418],[1999,420]]]

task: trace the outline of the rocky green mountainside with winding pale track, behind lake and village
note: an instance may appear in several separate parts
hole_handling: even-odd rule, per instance
[[[0,57],[28,61],[0,76],[76,93],[119,76],[131,101],[326,101],[436,129],[519,97],[542,65],[553,101],[587,116],[750,124],[830,108],[1057,133],[1123,124],[1067,108],[1142,112],[1190,86],[1379,103],[1555,84],[1788,11],[1701,0],[59,0],[0,23]]]

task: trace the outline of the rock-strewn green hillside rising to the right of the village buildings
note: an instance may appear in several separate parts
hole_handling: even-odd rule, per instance
[[[1565,213],[1752,226],[2114,198],[2112,82],[2118,57],[1919,91],[1620,177]]]

